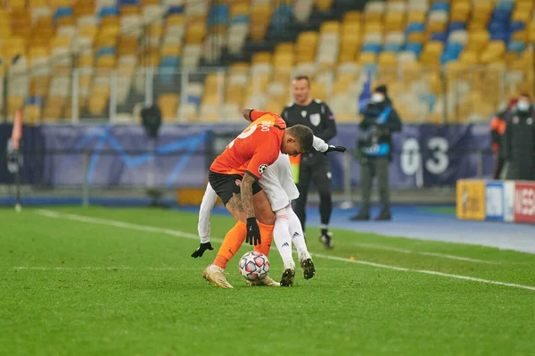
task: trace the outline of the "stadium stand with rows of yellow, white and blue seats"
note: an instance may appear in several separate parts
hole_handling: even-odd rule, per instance
[[[531,0],[358,6],[8,0],[0,105],[9,116],[23,108],[28,122],[128,121],[144,103],[159,104],[168,122],[239,120],[243,105],[279,112],[289,80],[306,74],[343,122],[356,120],[371,73],[374,84],[389,84],[405,121],[438,123],[487,120],[509,95],[533,93]]]

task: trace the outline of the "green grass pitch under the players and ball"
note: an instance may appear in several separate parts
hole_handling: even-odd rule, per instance
[[[190,257],[195,214],[50,211],[0,210],[1,355],[535,353],[535,255],[336,229],[325,252],[311,228],[316,277],[250,287],[235,258],[221,290],[202,279],[219,244]]]

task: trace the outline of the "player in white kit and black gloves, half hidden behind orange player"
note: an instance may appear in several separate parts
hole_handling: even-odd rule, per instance
[[[345,148],[342,146],[327,145],[319,137],[314,137],[314,148],[322,153],[345,151]],[[277,160],[268,166],[262,178],[259,179],[259,185],[264,190],[266,196],[268,196],[271,209],[276,214],[273,238],[284,263],[281,286],[293,285],[295,262],[292,258],[292,243],[297,250],[303,276],[306,279],[314,277],[316,269],[307,249],[307,244],[305,243],[300,220],[292,210],[291,202],[299,197],[299,190],[293,182],[292,166],[286,154],[280,153]],[[210,242],[210,214],[217,199],[218,195],[216,195],[216,192],[209,183],[206,186],[199,210],[198,230],[199,236],[201,237],[201,244]]]

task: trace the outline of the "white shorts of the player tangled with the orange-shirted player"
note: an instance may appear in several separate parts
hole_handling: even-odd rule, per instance
[[[292,200],[299,197],[299,190],[293,183],[290,158],[283,153],[280,153],[276,161],[264,170],[259,184],[268,196],[273,211],[284,209]]]

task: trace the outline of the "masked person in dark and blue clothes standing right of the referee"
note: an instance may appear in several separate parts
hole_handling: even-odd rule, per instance
[[[363,112],[364,119],[358,125],[357,155],[361,165],[360,188],[362,208],[351,220],[370,219],[372,180],[377,177],[382,210],[376,220],[391,219],[388,170],[391,162],[391,134],[401,131],[398,112],[392,107],[386,86],[375,87]]]

